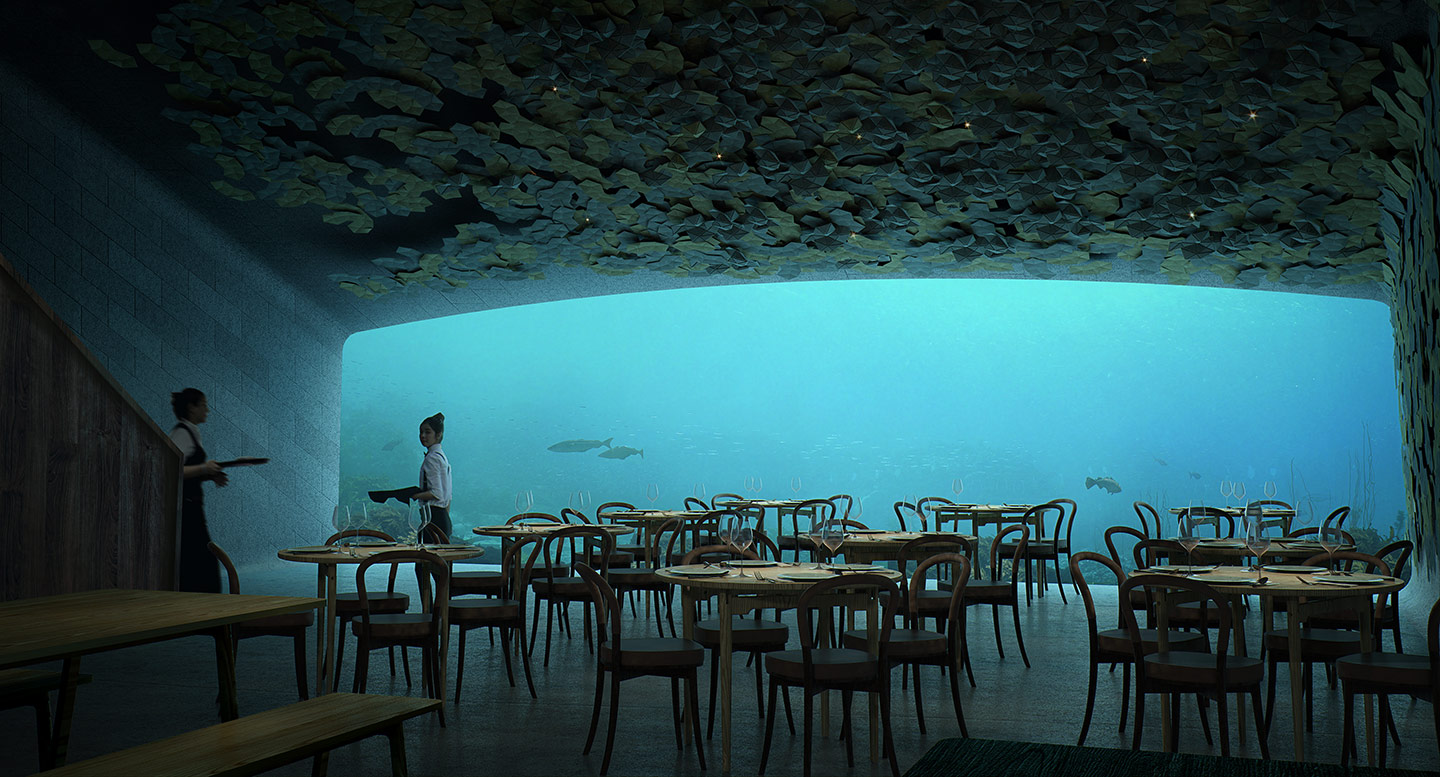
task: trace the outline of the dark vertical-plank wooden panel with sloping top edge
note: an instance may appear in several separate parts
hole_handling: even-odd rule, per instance
[[[173,589],[180,452],[0,256],[0,600]]]

